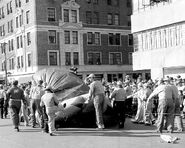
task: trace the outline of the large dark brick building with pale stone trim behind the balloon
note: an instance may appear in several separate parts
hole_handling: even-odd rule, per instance
[[[133,73],[131,11],[130,0],[1,0],[2,74],[23,82],[75,66],[82,78],[123,79]]]

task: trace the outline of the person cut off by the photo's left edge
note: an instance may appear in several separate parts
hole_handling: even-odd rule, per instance
[[[6,100],[6,92],[3,89],[3,85],[0,85],[0,115],[1,119],[3,119],[4,115],[4,105],[5,105],[5,100]]]

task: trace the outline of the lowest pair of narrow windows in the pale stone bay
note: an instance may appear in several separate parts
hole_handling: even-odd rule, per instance
[[[65,65],[79,65],[79,53],[78,52],[65,52]]]

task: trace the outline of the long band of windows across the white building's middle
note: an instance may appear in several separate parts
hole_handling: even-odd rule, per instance
[[[179,46],[184,44],[184,35],[181,25],[138,33],[134,35],[134,51]]]

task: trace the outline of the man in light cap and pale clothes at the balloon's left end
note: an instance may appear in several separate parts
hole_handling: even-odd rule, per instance
[[[52,88],[47,86],[45,88],[45,94],[41,98],[40,106],[45,106],[45,111],[48,116],[48,127],[50,136],[55,136],[55,113],[59,111],[59,101],[57,96],[53,93]]]

